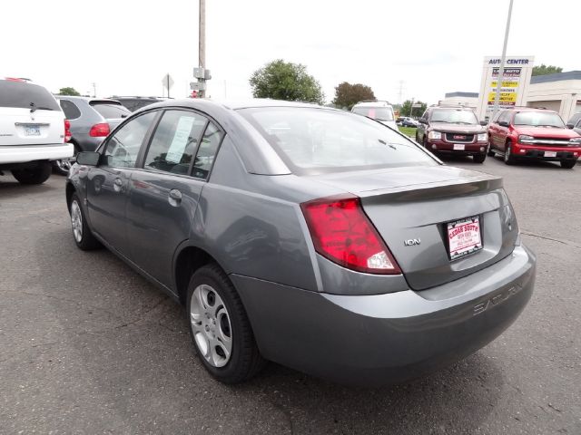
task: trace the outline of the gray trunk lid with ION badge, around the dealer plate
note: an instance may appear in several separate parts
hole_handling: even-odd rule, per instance
[[[361,198],[361,205],[409,286],[426,289],[477,272],[509,255],[517,222],[502,179],[446,166],[314,176]],[[478,218],[482,248],[452,259],[448,223]],[[458,225],[458,224],[457,224]]]

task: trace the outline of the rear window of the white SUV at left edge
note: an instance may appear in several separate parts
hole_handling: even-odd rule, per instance
[[[0,107],[61,111],[53,94],[42,86],[11,80],[0,80]]]

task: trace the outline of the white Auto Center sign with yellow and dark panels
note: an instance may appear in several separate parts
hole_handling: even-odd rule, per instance
[[[500,83],[498,107],[501,109],[523,105],[527,87],[533,70],[533,56],[507,57]],[[480,82],[480,101],[478,117],[484,119],[492,116],[497,95],[499,57],[485,57]]]

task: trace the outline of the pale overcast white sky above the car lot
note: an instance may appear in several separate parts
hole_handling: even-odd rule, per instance
[[[340,82],[379,100],[435,103],[478,92],[484,56],[502,52],[508,0],[206,0],[212,98],[251,97],[251,73],[275,59],[302,63],[327,102]],[[186,97],[198,64],[198,1],[5,2],[0,75],[50,91]],[[507,55],[581,70],[581,1],[514,0]]]

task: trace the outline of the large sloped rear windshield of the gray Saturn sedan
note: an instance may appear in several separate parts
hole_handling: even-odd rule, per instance
[[[350,112],[298,107],[239,112],[297,174],[438,165],[411,140]]]

